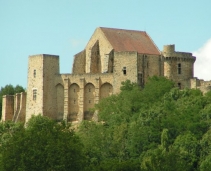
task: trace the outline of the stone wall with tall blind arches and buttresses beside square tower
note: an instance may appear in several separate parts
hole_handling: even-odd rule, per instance
[[[113,75],[109,73],[57,75],[55,86],[57,99],[60,99],[56,102],[56,106],[60,106],[57,115],[72,122],[93,120],[94,112],[90,108],[101,98],[113,94],[113,82]]]

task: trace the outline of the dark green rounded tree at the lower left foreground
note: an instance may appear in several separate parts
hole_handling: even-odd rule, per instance
[[[33,116],[27,127],[13,134],[2,145],[4,170],[83,170],[83,145],[64,122]]]

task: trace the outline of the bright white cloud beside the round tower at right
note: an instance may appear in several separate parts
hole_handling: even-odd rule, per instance
[[[211,80],[211,39],[193,52],[193,56],[196,56],[194,76],[199,79]]]

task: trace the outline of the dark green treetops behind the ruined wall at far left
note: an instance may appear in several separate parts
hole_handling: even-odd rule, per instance
[[[24,92],[24,88],[20,85],[16,85],[15,87],[11,84],[6,85],[5,87],[1,87],[0,89],[0,118],[2,115],[2,97],[3,95],[14,95],[15,93]]]

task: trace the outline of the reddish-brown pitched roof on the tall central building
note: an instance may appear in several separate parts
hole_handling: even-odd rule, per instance
[[[137,51],[160,55],[160,51],[145,31],[100,27],[115,51]]]

